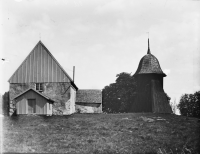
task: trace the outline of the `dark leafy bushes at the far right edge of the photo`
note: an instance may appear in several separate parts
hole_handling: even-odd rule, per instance
[[[181,115],[200,118],[200,91],[182,95],[178,109]]]

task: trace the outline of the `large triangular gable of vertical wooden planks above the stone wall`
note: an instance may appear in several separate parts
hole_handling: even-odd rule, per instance
[[[10,83],[71,81],[72,79],[41,41],[9,79]]]

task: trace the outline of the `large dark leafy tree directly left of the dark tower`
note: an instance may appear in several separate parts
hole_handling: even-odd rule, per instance
[[[103,111],[108,113],[128,112],[135,98],[136,82],[130,73],[116,75],[115,83],[105,86],[103,95]]]

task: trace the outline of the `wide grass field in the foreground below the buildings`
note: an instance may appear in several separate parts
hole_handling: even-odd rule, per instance
[[[169,114],[3,117],[3,152],[198,153],[196,118]]]

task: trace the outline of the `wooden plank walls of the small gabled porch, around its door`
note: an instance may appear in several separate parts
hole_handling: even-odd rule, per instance
[[[35,114],[52,114],[52,104],[47,99],[35,93],[34,91],[28,91],[16,98],[15,102],[17,107],[17,114],[28,114],[29,99],[36,100]]]

